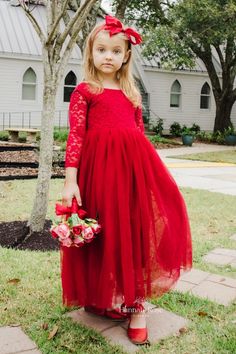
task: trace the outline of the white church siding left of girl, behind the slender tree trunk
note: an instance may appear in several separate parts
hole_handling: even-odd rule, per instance
[[[36,100],[22,100],[22,78],[24,72],[29,68],[35,71],[37,76]],[[69,64],[65,71],[65,76],[70,70],[73,70],[77,76],[77,82],[82,80],[81,68],[79,64]],[[56,99],[55,125],[58,125],[60,116],[60,124],[67,124],[68,103],[63,102],[63,84],[64,78],[59,86]],[[0,57],[0,130],[3,124],[3,114],[5,124],[10,123],[12,126],[21,126],[22,117],[26,126],[31,124],[32,127],[40,126],[42,104],[43,104],[43,67],[40,61],[9,59]],[[24,114],[22,115],[22,112]],[[31,113],[29,113],[31,112]],[[30,122],[29,122],[30,120]]]

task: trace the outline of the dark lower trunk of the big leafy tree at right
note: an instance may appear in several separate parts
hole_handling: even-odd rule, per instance
[[[214,132],[223,132],[225,128],[231,125],[231,111],[235,100],[221,99],[216,101],[216,116],[214,124]]]

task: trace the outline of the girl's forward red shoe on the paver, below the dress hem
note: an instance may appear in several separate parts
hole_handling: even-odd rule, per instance
[[[134,303],[133,306],[129,307],[129,309],[131,308],[133,313],[145,311],[143,305],[139,303]],[[130,328],[130,322],[131,319],[127,330],[127,335],[130,341],[134,344],[149,344],[147,326],[144,328]]]

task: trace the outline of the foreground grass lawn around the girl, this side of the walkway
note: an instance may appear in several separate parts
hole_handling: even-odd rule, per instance
[[[1,221],[29,216],[35,180],[0,183]],[[60,198],[62,180],[53,180],[48,217]],[[193,235],[194,267],[236,278],[230,267],[206,265],[202,256],[215,247],[235,248],[229,239],[236,230],[235,197],[201,190],[182,189]],[[6,208],[7,202],[7,208]],[[0,248],[0,325],[20,324],[43,354],[117,353],[98,333],[66,318],[61,303],[58,252],[29,252]],[[9,282],[11,279],[18,281]],[[158,345],[143,349],[161,354],[226,354],[236,352],[236,303],[224,307],[189,294],[170,292],[151,302],[190,320],[187,330]],[[58,326],[55,337],[49,332]]]

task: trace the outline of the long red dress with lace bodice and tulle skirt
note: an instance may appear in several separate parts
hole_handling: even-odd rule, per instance
[[[167,292],[192,266],[187,211],[122,90],[75,88],[66,167],[78,168],[83,208],[102,232],[61,247],[63,303],[111,308]]]

